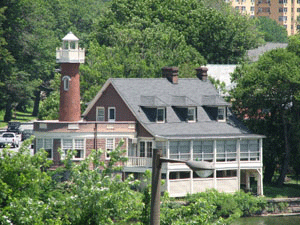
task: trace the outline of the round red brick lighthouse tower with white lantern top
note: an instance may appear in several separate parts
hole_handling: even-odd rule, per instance
[[[61,64],[59,121],[79,121],[79,65],[84,63],[84,49],[79,48],[79,39],[72,32],[62,40],[62,47],[56,49],[56,62]]]

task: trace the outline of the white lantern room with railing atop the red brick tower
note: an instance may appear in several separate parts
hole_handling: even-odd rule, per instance
[[[84,49],[79,48],[79,39],[69,32],[62,39],[62,47],[56,49],[57,63],[84,63]]]

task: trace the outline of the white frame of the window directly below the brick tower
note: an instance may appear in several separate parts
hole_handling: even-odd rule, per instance
[[[78,145],[78,141],[82,142],[82,145]],[[65,142],[69,143],[69,146],[65,146]],[[81,152],[81,157],[77,157],[77,155],[73,156],[72,160],[83,160],[85,158],[85,139],[83,138],[63,138],[61,139],[61,149],[63,155],[61,156],[62,159],[66,158],[66,154],[68,150],[76,150],[77,153]]]

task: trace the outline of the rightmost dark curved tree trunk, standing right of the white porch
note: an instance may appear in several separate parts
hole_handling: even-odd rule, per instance
[[[285,176],[288,172],[289,161],[290,161],[290,148],[288,144],[288,128],[287,128],[288,124],[285,115],[282,116],[282,121],[283,121],[283,134],[284,134],[284,142],[285,142],[285,154],[284,154],[283,165],[280,171],[280,176],[277,180],[277,184],[279,186],[282,186],[284,184]]]

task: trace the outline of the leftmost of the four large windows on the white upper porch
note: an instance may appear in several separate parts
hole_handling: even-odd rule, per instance
[[[170,158],[188,160],[191,158],[190,141],[170,141]]]

